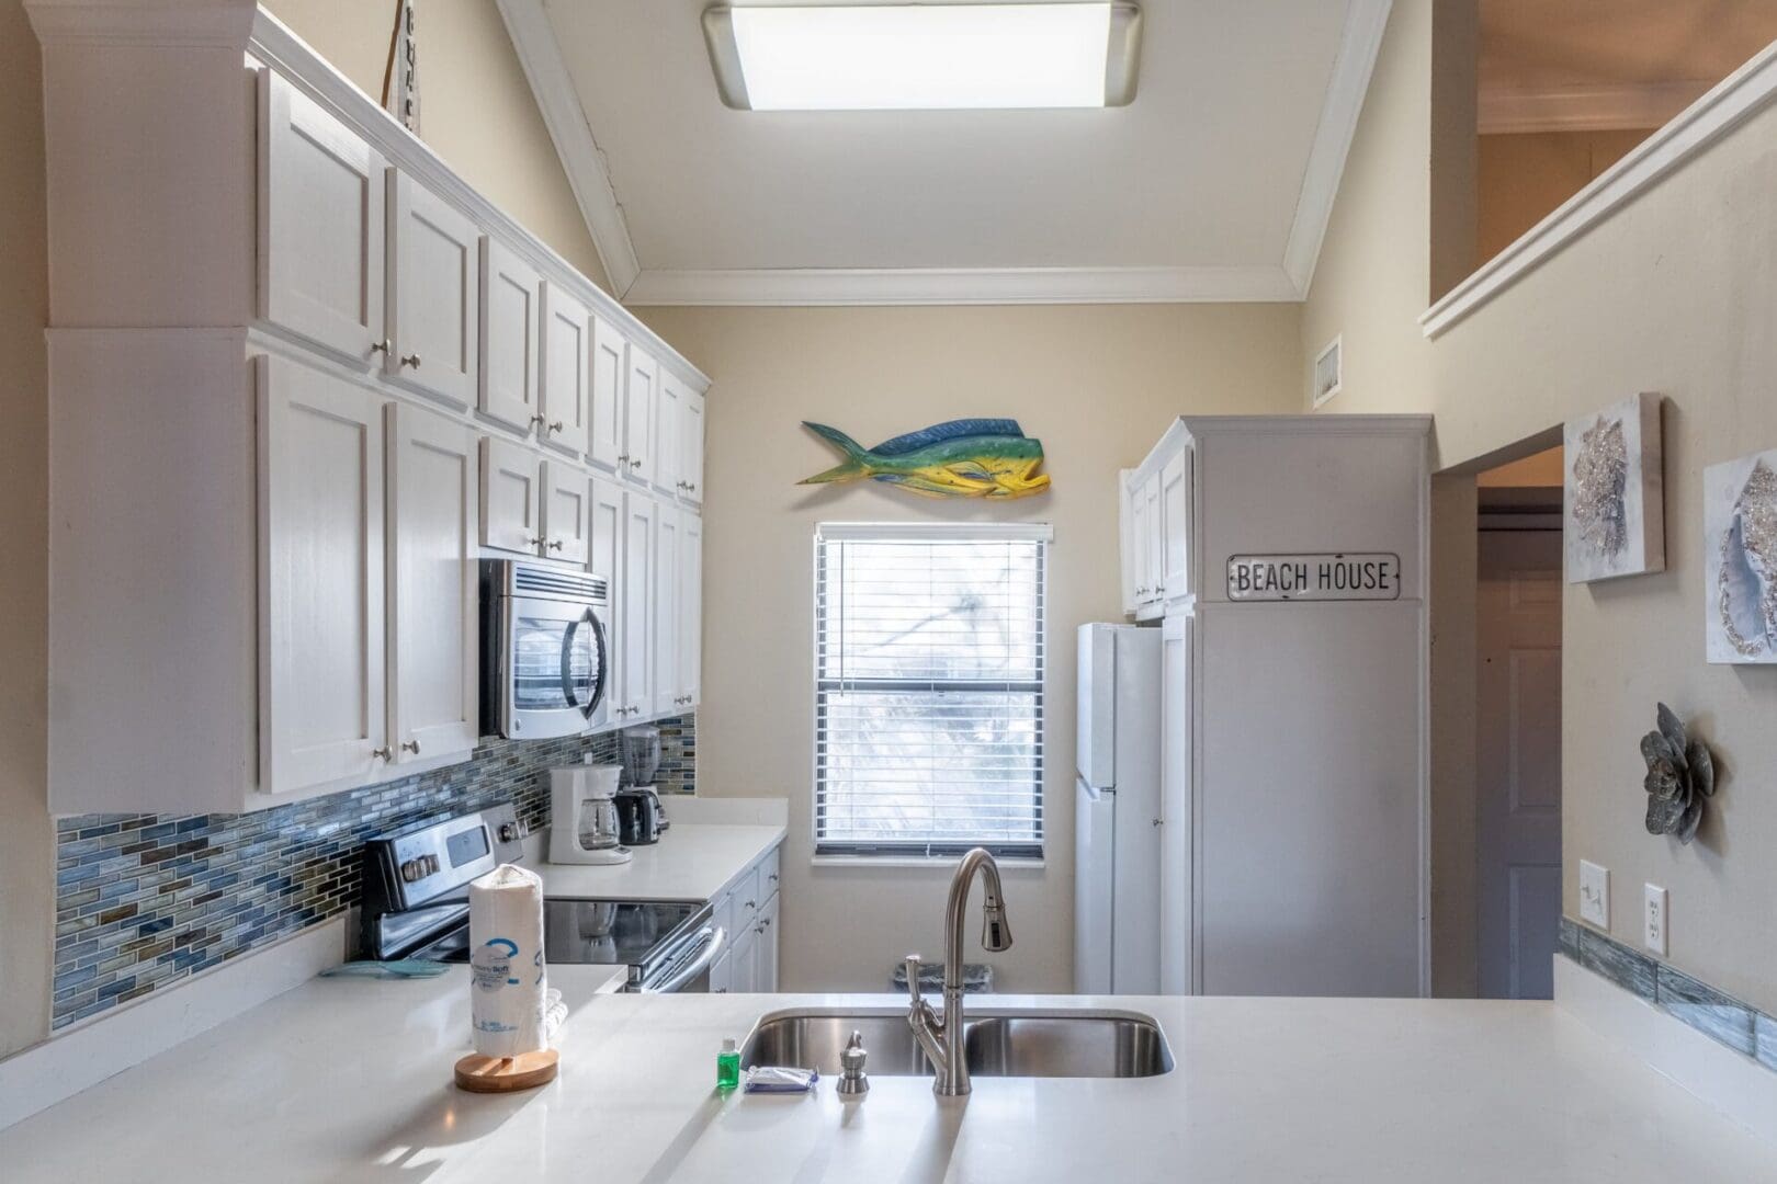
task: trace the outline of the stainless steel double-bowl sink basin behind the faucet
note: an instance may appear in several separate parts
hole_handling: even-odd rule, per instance
[[[1155,1077],[1173,1070],[1166,1035],[1134,1012],[970,1010],[963,1058],[976,1077]],[[869,1072],[929,1077],[906,1012],[773,1012],[741,1046],[741,1067],[794,1065],[839,1076],[839,1053],[864,1033]]]

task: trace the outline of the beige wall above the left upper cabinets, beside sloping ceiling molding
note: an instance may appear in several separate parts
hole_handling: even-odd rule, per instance
[[[382,98],[393,0],[267,0],[265,7],[361,91]],[[494,0],[425,0],[418,11],[425,142],[464,181],[610,289]]]

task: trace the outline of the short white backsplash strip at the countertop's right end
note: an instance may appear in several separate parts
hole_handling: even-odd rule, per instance
[[[1777,1143],[1777,1072],[1560,955],[1555,1003],[1706,1106]]]

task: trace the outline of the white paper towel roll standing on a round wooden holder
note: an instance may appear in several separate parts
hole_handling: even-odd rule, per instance
[[[482,1056],[549,1046],[544,882],[503,863],[469,884],[469,1021]]]

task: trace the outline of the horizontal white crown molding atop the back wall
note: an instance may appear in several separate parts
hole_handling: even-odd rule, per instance
[[[1237,304],[1294,302],[1283,268],[761,268],[641,272],[624,304]]]

